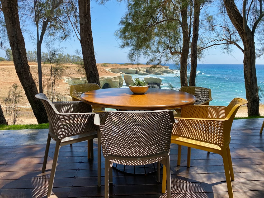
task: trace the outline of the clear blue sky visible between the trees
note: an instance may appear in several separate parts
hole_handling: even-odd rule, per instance
[[[114,32],[119,29],[119,21],[126,11],[125,3],[110,1],[105,5],[98,5],[94,0],[91,1],[91,20],[93,32],[93,44],[96,52],[97,63],[129,63],[127,49],[119,48],[119,41],[114,36]],[[24,35],[26,50],[35,50],[35,46],[28,41]],[[65,41],[60,47],[66,47],[65,54],[75,54],[76,49],[81,49],[77,39]],[[220,48],[211,48],[206,52],[206,56],[199,61],[204,64],[243,64],[243,53],[233,48],[232,55],[224,54]],[[44,44],[42,45],[44,49]],[[0,50],[0,57],[5,57],[3,50]],[[146,60],[140,60],[145,63]],[[256,64],[263,64],[263,58],[257,59]]]

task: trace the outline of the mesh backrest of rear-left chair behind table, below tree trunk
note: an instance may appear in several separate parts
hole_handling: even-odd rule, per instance
[[[87,91],[101,89],[96,83],[88,84],[75,84],[70,86],[70,96],[72,96],[72,101],[81,101],[81,95]]]

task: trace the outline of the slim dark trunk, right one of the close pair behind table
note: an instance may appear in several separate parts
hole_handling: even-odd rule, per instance
[[[197,42],[200,21],[200,0],[194,0],[194,27],[192,30],[192,44],[191,44],[191,72],[189,86],[195,86],[196,70],[197,70]]]

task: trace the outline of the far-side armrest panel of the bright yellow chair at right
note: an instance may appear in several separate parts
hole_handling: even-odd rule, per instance
[[[225,106],[189,105],[181,110],[181,117],[187,118],[224,119],[226,116]]]

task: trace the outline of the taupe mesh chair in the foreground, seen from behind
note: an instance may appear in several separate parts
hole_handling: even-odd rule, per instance
[[[157,162],[157,181],[160,163],[163,166],[162,192],[171,197],[169,151],[172,126],[175,122],[171,110],[158,111],[109,111],[98,125],[98,186],[101,186],[101,146],[105,157],[105,198],[109,197],[112,183],[112,164],[126,166],[146,165]]]

